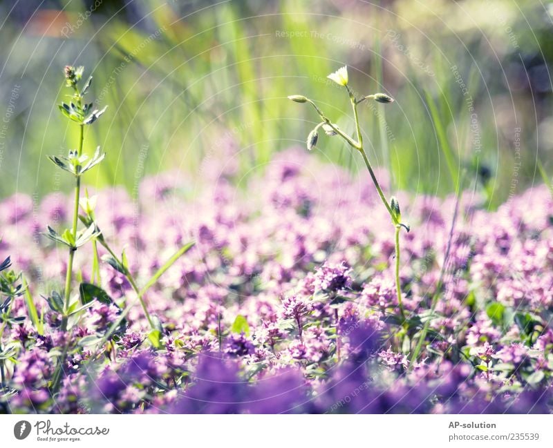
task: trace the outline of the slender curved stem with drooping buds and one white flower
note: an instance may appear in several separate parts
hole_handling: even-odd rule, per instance
[[[353,91],[349,88],[348,82],[348,68],[346,66],[339,68],[336,72],[331,73],[328,75],[328,79],[331,79],[339,86],[343,86],[346,88],[346,91],[348,92],[351,107],[353,109],[353,117],[355,119],[355,133],[357,135],[357,139],[353,139],[344,131],[342,131],[337,124],[332,123],[326,115],[322,112],[322,110],[308,97],[304,97],[303,95],[290,95],[288,98],[292,101],[295,101],[297,103],[309,103],[315,110],[317,111],[317,114],[319,114],[319,117],[321,118],[321,122],[313,128],[313,130],[309,133],[307,138],[307,148],[308,150],[312,150],[312,148],[315,148],[317,145],[317,141],[319,139],[319,129],[323,129],[326,135],[332,137],[335,135],[339,135],[342,139],[346,141],[347,144],[355,148],[356,150],[361,153],[363,160],[365,162],[365,165],[367,167],[368,173],[371,175],[371,179],[373,179],[373,184],[375,184],[376,190],[378,192],[378,195],[380,199],[382,199],[382,203],[386,207],[386,210],[388,211],[393,226],[395,227],[395,286],[397,290],[397,302],[399,304],[400,308],[400,314],[402,317],[402,320],[405,321],[405,311],[403,307],[403,301],[402,301],[402,289],[400,284],[400,230],[401,228],[405,228],[406,231],[409,232],[409,224],[405,224],[402,222],[402,215],[400,212],[400,204],[397,202],[397,199],[395,197],[391,197],[390,202],[386,200],[386,197],[384,196],[384,192],[382,191],[382,188],[380,187],[380,184],[375,176],[375,173],[373,171],[373,167],[371,166],[371,162],[369,162],[368,157],[366,155],[366,152],[363,147],[363,137],[361,133],[361,127],[359,126],[359,115],[357,113],[357,106],[361,104],[363,101],[367,100],[373,100],[377,101],[379,103],[383,104],[389,104],[393,103],[393,98],[386,95],[385,93],[375,93],[373,95],[366,95],[361,98],[356,98]]]

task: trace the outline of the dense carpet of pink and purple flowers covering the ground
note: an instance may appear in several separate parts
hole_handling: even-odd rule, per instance
[[[12,266],[0,304],[12,300],[1,309],[0,412],[552,411],[547,187],[497,211],[474,191],[397,194],[411,224],[402,319],[394,229],[364,171],[291,148],[263,173],[236,173],[232,157],[212,159],[202,184],[174,172],[144,179],[136,199],[122,188],[94,193],[102,237],[125,249],[141,285],[194,242],[144,293],[150,316],[113,259],[97,275],[87,244],[73,280],[94,284],[98,300],[81,290],[84,306],[62,322],[50,292],[63,288],[67,256],[43,223],[63,228],[71,199],[3,199],[0,258]],[[387,190],[386,173],[376,174]],[[76,286],[72,295],[79,303]]]

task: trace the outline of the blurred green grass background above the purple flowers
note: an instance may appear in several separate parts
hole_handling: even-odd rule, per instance
[[[56,106],[66,64],[85,66],[88,98],[109,105],[85,145],[107,162],[85,182],[129,191],[173,169],[192,184],[210,159],[241,179],[305,148],[317,115],[288,95],[353,132],[326,79],[347,65],[358,95],[396,100],[361,108],[391,188],[446,195],[465,171],[495,208],[553,172],[550,13],[532,0],[1,1],[0,195],[71,188],[46,159],[77,144]],[[361,168],[339,139],[321,135],[314,152]]]

